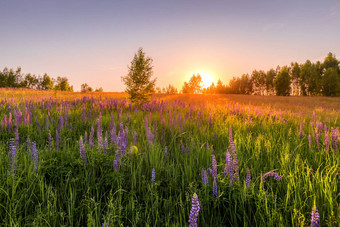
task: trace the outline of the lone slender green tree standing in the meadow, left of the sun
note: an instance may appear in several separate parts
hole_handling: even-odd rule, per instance
[[[145,55],[142,48],[139,48],[128,68],[128,74],[122,77],[126,85],[125,92],[129,94],[132,103],[143,104],[155,92],[156,78],[151,79],[152,59]]]

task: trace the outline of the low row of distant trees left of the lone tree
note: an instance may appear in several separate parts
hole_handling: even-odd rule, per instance
[[[46,73],[43,76],[23,74],[20,67],[16,70],[4,68],[0,71],[0,87],[73,91],[67,77],[52,78]]]

